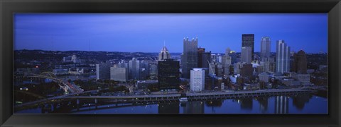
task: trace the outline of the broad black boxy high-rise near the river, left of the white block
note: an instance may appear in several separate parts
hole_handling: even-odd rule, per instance
[[[180,86],[180,64],[173,59],[158,61],[158,86],[162,91],[178,90]]]

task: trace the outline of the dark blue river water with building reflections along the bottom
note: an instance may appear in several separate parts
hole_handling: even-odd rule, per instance
[[[85,102],[88,103],[88,102]],[[39,110],[40,109],[40,110]],[[80,107],[61,102],[36,109],[16,111],[21,114],[328,114],[328,99],[315,95],[246,97],[195,102],[161,102],[153,104],[102,103]]]

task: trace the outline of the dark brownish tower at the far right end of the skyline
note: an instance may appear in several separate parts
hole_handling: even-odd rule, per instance
[[[293,59],[293,71],[307,73],[307,56],[305,56],[305,52],[300,50],[297,54],[294,54]]]

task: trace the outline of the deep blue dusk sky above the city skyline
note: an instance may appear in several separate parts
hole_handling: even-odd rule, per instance
[[[291,51],[328,51],[328,13],[16,13],[14,49],[58,51],[183,52],[183,38],[224,53],[242,48],[242,34],[285,40]]]

